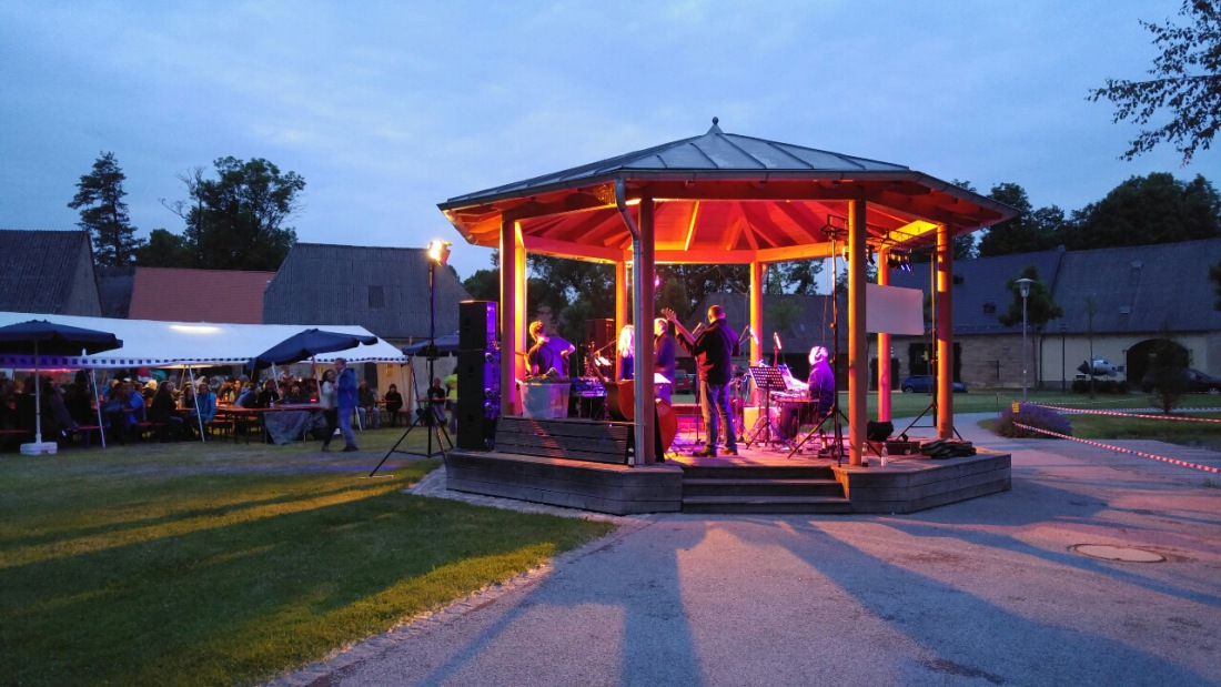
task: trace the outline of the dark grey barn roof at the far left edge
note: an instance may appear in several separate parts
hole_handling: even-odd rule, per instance
[[[101,315],[88,232],[0,229],[0,310]]]

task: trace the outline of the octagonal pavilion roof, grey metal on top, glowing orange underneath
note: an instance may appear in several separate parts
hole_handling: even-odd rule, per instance
[[[863,200],[869,243],[923,246],[937,223],[957,236],[1016,210],[902,165],[707,133],[560,172],[451,198],[440,209],[476,245],[499,244],[519,222],[532,253],[624,260],[631,236],[614,200],[654,201],[658,262],[783,261],[830,255],[846,237],[849,203]],[[630,209],[637,216],[639,205]]]

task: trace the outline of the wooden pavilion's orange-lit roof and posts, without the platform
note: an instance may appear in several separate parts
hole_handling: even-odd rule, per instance
[[[886,265],[896,251],[935,249],[937,432],[950,438],[952,240],[1016,215],[901,165],[729,134],[716,118],[702,135],[459,195],[440,209],[469,243],[499,249],[505,416],[521,410],[514,381],[525,373],[527,253],[613,264],[617,329],[653,320],[657,264],[750,265],[756,332],[767,265],[846,254],[851,465],[861,464],[866,443],[867,257]],[[888,270],[878,276],[889,282]],[[889,336],[879,334],[878,345],[889,350]],[[636,337],[635,347],[637,378],[652,378],[652,338]],[[761,354],[752,342],[751,360]],[[889,359],[879,356],[880,420],[890,416]],[[635,405],[634,464],[648,465],[656,460],[650,384],[637,388]]]

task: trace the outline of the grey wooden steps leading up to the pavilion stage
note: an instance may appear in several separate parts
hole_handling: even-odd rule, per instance
[[[684,513],[851,513],[830,467],[683,466]]]

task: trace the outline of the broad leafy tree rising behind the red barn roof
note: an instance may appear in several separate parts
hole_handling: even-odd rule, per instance
[[[249,162],[221,157],[216,179],[197,167],[178,178],[189,201],[165,204],[187,221],[183,234],[195,267],[211,270],[278,270],[297,232],[286,222],[300,210],[305,179],[256,157]]]

